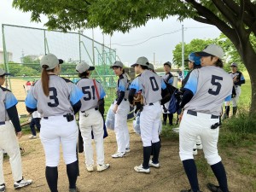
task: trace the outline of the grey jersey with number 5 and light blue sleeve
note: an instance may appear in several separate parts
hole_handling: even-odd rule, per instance
[[[184,86],[194,96],[184,109],[219,116],[224,99],[232,92],[232,84],[230,74],[220,67],[194,69]]]

